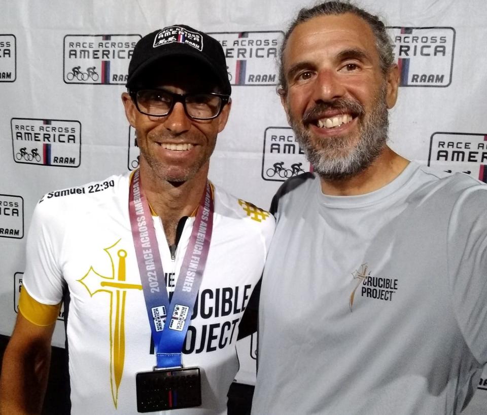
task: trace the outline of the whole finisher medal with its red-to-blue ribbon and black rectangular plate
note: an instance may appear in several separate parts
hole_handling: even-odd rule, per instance
[[[206,182],[172,301],[169,301],[152,215],[141,192],[139,174],[136,170],[130,186],[129,215],[157,365],[153,371],[136,374],[137,411],[200,406],[200,369],[183,368],[181,354],[212,237],[211,186]],[[148,258],[153,260],[149,266],[145,262]]]

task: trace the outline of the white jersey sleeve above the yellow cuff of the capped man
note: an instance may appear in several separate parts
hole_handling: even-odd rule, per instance
[[[61,209],[41,201],[34,209],[26,244],[26,265],[22,284],[38,303],[57,305],[62,300],[64,279],[60,266],[62,239],[66,227]],[[58,214],[56,214],[56,210]]]

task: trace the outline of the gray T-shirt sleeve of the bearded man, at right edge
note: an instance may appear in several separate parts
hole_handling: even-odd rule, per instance
[[[448,277],[458,324],[472,355],[487,363],[487,186],[455,203],[448,223]]]

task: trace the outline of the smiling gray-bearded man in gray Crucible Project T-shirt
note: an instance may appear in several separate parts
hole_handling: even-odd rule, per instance
[[[280,82],[314,172],[272,201],[252,412],[460,413],[487,363],[487,186],[386,144],[399,71],[363,9],[302,9]]]

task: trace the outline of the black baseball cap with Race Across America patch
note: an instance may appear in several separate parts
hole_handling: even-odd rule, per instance
[[[222,93],[231,94],[222,45],[212,36],[184,24],[155,30],[137,42],[128,65],[126,87],[133,87],[135,80],[152,65],[178,56],[194,58],[206,65],[215,74]]]

